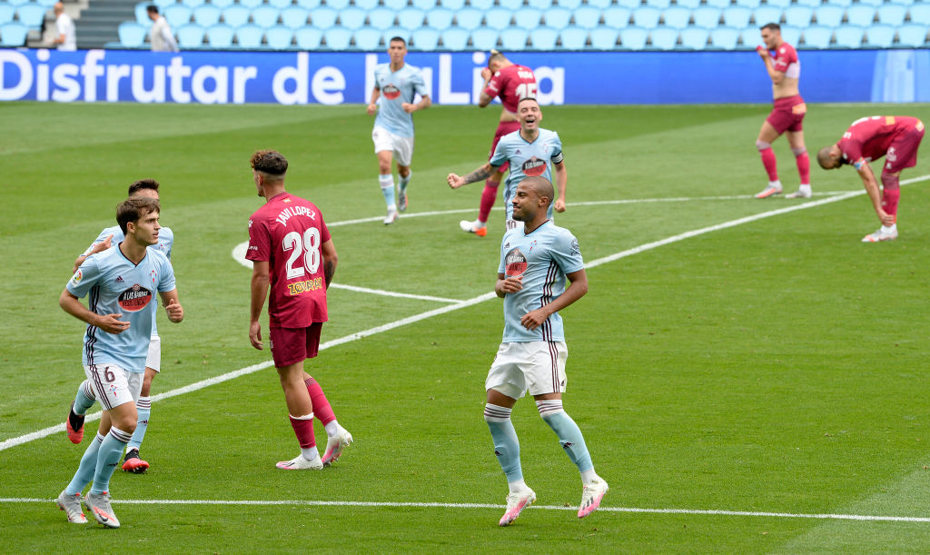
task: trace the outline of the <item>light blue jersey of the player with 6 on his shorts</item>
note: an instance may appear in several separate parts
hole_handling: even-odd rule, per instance
[[[145,371],[152,336],[156,292],[175,288],[171,262],[161,251],[149,248],[137,265],[118,248],[86,258],[68,282],[68,291],[78,298],[89,293],[87,309],[98,314],[123,314],[129,328],[108,334],[87,325],[84,335],[85,365],[112,363],[127,372]]]

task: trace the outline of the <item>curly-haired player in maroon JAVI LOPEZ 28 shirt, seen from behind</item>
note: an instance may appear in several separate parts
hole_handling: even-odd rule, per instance
[[[291,426],[300,455],[277,464],[279,469],[322,469],[352,443],[352,434],[339,426],[326,395],[303,361],[316,356],[320,330],[327,320],[326,287],[336,271],[336,247],[319,208],[285,191],[287,160],[279,152],[252,155],[252,174],[265,205],[248,220],[248,251],[252,260],[252,309],[248,338],[261,350],[259,316],[268,301],[268,337]],[[320,458],[313,437],[313,415],[326,428],[326,453]]]

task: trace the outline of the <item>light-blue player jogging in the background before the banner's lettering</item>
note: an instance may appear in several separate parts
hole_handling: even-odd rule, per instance
[[[410,161],[413,159],[413,116],[410,114],[426,110],[432,104],[423,73],[404,61],[406,41],[395,36],[388,45],[391,62],[375,67],[375,88],[371,91],[367,109],[368,115],[378,113],[371,139],[375,141],[375,154],[378,155],[378,182],[388,205],[384,225],[392,224],[397,219],[397,211],[404,212],[407,206],[406,188],[410,184]],[[418,94],[421,99],[415,104],[413,101]],[[394,155],[397,156],[397,175],[400,177],[396,202],[391,173]]]

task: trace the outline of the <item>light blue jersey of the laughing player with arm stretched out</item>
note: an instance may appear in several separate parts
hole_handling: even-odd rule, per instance
[[[504,208],[507,210],[507,219],[513,219],[513,195],[517,192],[520,181],[529,177],[542,176],[552,182],[552,165],[562,162],[562,140],[559,134],[549,129],[539,129],[539,136],[533,142],[527,142],[514,131],[505,135],[498,141],[494,155],[489,161],[491,165],[499,167],[505,162],[510,163],[510,175],[504,186]],[[553,201],[555,199],[552,199]],[[549,205],[547,216],[552,218],[552,204]]]

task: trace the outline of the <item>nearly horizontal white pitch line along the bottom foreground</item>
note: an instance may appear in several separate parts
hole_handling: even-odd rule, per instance
[[[0,497],[0,503],[54,503],[55,499],[35,499],[20,497]],[[297,499],[282,500],[233,500],[233,499],[113,499],[114,505],[246,505],[258,507],[385,507],[385,508],[420,508],[420,509],[507,509],[506,505],[491,503],[416,503],[392,501],[301,501]],[[532,510],[572,510],[576,507],[563,505],[533,505]],[[930,517],[900,517],[865,514],[810,514],[795,512],[765,512],[754,510],[715,510],[715,509],[645,509],[640,507],[600,507],[598,512],[632,512],[647,514],[696,514],[730,517],[770,517],[778,519],[822,519],[836,521],[871,521],[871,522],[930,522]]]

